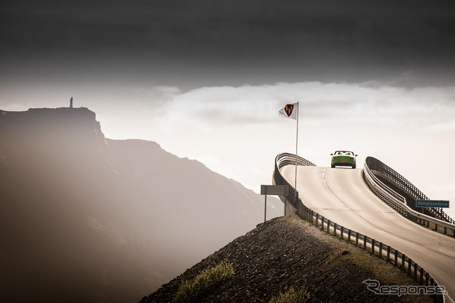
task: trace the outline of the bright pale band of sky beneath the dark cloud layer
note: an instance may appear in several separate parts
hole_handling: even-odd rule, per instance
[[[406,73],[387,83],[275,83],[240,87],[102,87],[79,90],[75,105],[97,112],[112,139],[159,142],[166,151],[197,159],[259,192],[270,184],[274,157],[295,152],[296,123],[278,117],[299,102],[299,155],[328,166],[336,149],[375,156],[429,198],[455,201],[451,151],[455,87],[414,87]],[[47,96],[16,92],[28,105],[3,101],[4,110],[67,106],[65,91]],[[43,101],[36,101],[43,100]],[[451,216],[451,209],[446,210]]]

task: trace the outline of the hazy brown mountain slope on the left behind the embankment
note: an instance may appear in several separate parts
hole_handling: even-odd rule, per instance
[[[267,202],[278,216],[282,203]],[[0,110],[7,302],[139,301],[254,228],[263,209],[198,161],[106,139],[86,108]]]

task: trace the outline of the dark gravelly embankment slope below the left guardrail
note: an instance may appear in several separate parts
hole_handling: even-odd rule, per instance
[[[297,216],[257,225],[141,302],[172,302],[182,282],[223,261],[232,263],[233,277],[195,302],[269,302],[290,287],[305,287],[307,302],[432,302],[423,295],[398,297],[368,290],[363,283],[368,279],[380,285],[416,284],[385,260],[326,235]]]

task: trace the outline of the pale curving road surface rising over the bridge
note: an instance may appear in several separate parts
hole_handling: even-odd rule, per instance
[[[295,182],[295,166],[282,174]],[[455,238],[407,220],[370,191],[363,169],[297,166],[297,191],[304,204],[337,224],[405,253],[446,287],[447,302],[455,298]]]

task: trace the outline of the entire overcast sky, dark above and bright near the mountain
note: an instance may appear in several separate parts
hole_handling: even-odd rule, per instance
[[[106,137],[259,191],[300,102],[304,158],[375,156],[455,203],[451,1],[2,1],[0,41],[1,110],[73,97]]]

